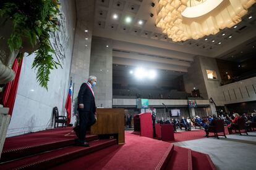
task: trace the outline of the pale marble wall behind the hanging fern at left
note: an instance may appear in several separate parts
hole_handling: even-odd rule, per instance
[[[56,34],[59,43],[64,46],[58,49],[62,56],[54,59],[61,60],[62,68],[51,71],[48,83],[48,91],[36,82],[36,71],[32,62],[35,54],[24,57],[20,73],[19,87],[12,113],[11,123],[7,136],[40,131],[52,126],[52,110],[57,106],[61,115],[66,115],[64,109],[67,92],[69,90],[70,64],[74,45],[74,33],[76,24],[75,2],[61,0],[62,28]],[[65,19],[66,17],[66,19]],[[54,38],[51,41],[54,46]]]

